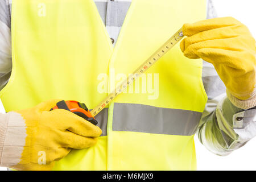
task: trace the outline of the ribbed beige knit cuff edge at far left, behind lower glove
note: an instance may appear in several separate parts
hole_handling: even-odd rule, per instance
[[[8,128],[8,114],[0,113],[0,166],[2,162],[3,143],[5,143],[6,131]]]

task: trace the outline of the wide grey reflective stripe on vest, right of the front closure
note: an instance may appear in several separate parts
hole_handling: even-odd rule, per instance
[[[114,104],[113,131],[193,135],[202,113],[141,104]]]

